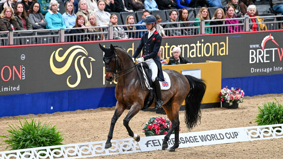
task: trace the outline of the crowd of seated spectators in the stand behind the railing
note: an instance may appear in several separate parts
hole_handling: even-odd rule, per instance
[[[20,2],[19,2],[20,1]],[[65,13],[58,12],[59,3],[56,0],[2,0],[4,3],[0,14],[0,31],[34,30],[34,29],[72,29],[71,33],[102,32],[101,28],[84,29],[91,26],[115,26],[120,16],[110,14],[114,12],[143,11],[142,19],[153,10],[168,10],[169,20],[166,22],[189,21],[188,8],[201,7],[195,17],[194,23],[168,23],[159,25],[161,36],[180,36],[197,34],[198,29],[165,29],[199,26],[199,21],[209,20],[207,7],[219,7],[212,19],[218,21],[205,22],[205,34],[242,32],[241,21],[233,18],[256,17],[258,12],[253,0],[229,0],[226,6],[222,6],[221,0],[66,0]],[[273,10],[283,15],[283,0],[272,0]],[[180,10],[177,10],[180,9]],[[135,14],[126,17],[124,24],[135,24]],[[161,22],[160,15],[155,15],[157,22]],[[223,19],[223,20],[221,20]],[[224,20],[230,19],[230,20]],[[143,20],[138,21],[141,24]],[[263,22],[263,19],[249,18],[249,23]],[[229,26],[219,26],[233,24]],[[213,27],[212,25],[217,25]],[[145,26],[113,27],[114,39],[138,38],[144,33],[136,30],[146,29]],[[251,24],[249,31],[266,30],[264,24]],[[125,32],[126,31],[126,32]],[[73,41],[104,40],[107,37],[87,34],[75,36]]]

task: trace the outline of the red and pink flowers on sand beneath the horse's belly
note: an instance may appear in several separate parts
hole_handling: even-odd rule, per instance
[[[143,123],[144,124],[144,123]],[[142,125],[143,125],[142,124]],[[146,136],[166,135],[171,128],[171,121],[162,117],[150,118],[142,129]],[[179,131],[181,127],[179,127]],[[173,131],[172,134],[175,132]],[[147,135],[148,134],[148,135]]]

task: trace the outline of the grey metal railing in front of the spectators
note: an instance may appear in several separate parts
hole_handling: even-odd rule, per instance
[[[249,26],[253,24],[265,25],[267,30],[283,29],[281,20],[282,15],[249,17],[249,18],[232,18],[220,20],[204,20],[204,21],[183,21],[183,22],[165,22],[156,25],[156,30],[165,33],[164,36],[180,36],[180,35],[198,35],[205,34],[207,30],[211,33],[231,33],[231,32],[247,32]],[[249,23],[249,19],[261,18],[264,22]],[[278,20],[279,19],[279,20]],[[226,21],[238,20],[237,24],[226,24]],[[221,25],[205,25],[208,22],[221,21]],[[197,23],[198,26],[193,25]],[[21,30],[0,32],[0,46],[3,45],[25,45],[25,44],[45,44],[58,42],[76,42],[76,41],[98,41],[114,39],[113,35],[127,34],[130,38],[141,38],[141,34],[147,30],[124,30],[122,27],[137,27],[141,24],[134,25],[114,25],[114,26],[98,26],[85,28],[68,28],[68,29],[42,29],[42,30]],[[163,28],[161,27],[163,26]],[[237,27],[236,27],[237,26]],[[117,27],[121,27],[118,29]],[[95,29],[98,32],[92,32]],[[234,29],[233,29],[234,28]],[[237,28],[237,30],[235,29]],[[72,33],[74,29],[84,29],[84,33]],[[90,31],[92,30],[92,31]],[[221,32],[220,32],[221,31]]]

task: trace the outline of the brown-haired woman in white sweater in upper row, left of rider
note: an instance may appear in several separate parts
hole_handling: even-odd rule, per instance
[[[108,25],[110,21],[110,13],[104,11],[106,2],[104,0],[99,0],[98,2],[98,11],[95,12],[97,23],[100,26]]]

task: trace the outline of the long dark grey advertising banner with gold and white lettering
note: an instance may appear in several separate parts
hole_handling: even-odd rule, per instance
[[[282,37],[282,31],[164,37],[162,57],[179,46],[193,63],[221,61],[222,78],[282,74]],[[0,48],[0,95],[114,87],[104,78],[99,43],[132,55],[139,40]]]

